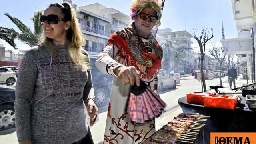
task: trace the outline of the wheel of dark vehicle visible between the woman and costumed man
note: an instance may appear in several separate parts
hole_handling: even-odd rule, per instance
[[[98,89],[96,92],[95,92],[95,98],[94,98],[94,103],[96,104],[97,107],[101,107],[101,106],[104,106],[105,103],[106,103],[106,90],[104,89]]]

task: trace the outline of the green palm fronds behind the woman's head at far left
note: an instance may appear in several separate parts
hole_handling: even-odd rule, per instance
[[[40,34],[42,32],[42,26],[40,24],[39,17],[40,15],[42,15],[42,13],[36,14],[33,18],[34,32],[32,32],[30,28],[23,24],[18,18],[14,18],[10,16],[8,13],[5,13],[4,15],[10,18],[10,20],[18,27],[20,32],[17,32],[13,28],[0,27],[0,39],[5,40],[14,49],[16,49],[14,39],[24,42],[25,44],[28,44],[30,47],[36,46],[36,44],[39,43]]]

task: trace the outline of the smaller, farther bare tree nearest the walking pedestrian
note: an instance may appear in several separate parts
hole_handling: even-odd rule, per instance
[[[216,46],[216,44],[213,44],[212,49],[209,50],[210,54],[212,54],[212,56],[214,56],[214,58],[216,58],[216,60],[218,60],[218,62],[220,63],[220,86],[222,86],[222,80],[221,80],[221,66],[222,63],[226,57],[226,54],[228,52],[228,48],[222,48],[220,46]]]

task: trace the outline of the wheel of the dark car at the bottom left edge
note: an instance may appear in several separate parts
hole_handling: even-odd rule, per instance
[[[0,107],[0,131],[14,128],[15,126],[14,106],[4,105]]]

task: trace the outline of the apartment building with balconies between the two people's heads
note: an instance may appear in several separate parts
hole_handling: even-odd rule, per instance
[[[71,0],[64,0],[63,2],[72,4]],[[99,3],[81,6],[78,9],[76,4],[72,4],[72,7],[76,9],[78,14],[78,22],[86,40],[84,49],[89,54],[98,55],[106,46],[110,36],[127,27],[131,22],[130,16]],[[43,14],[44,10],[39,12]],[[37,13],[35,12],[35,14]]]

